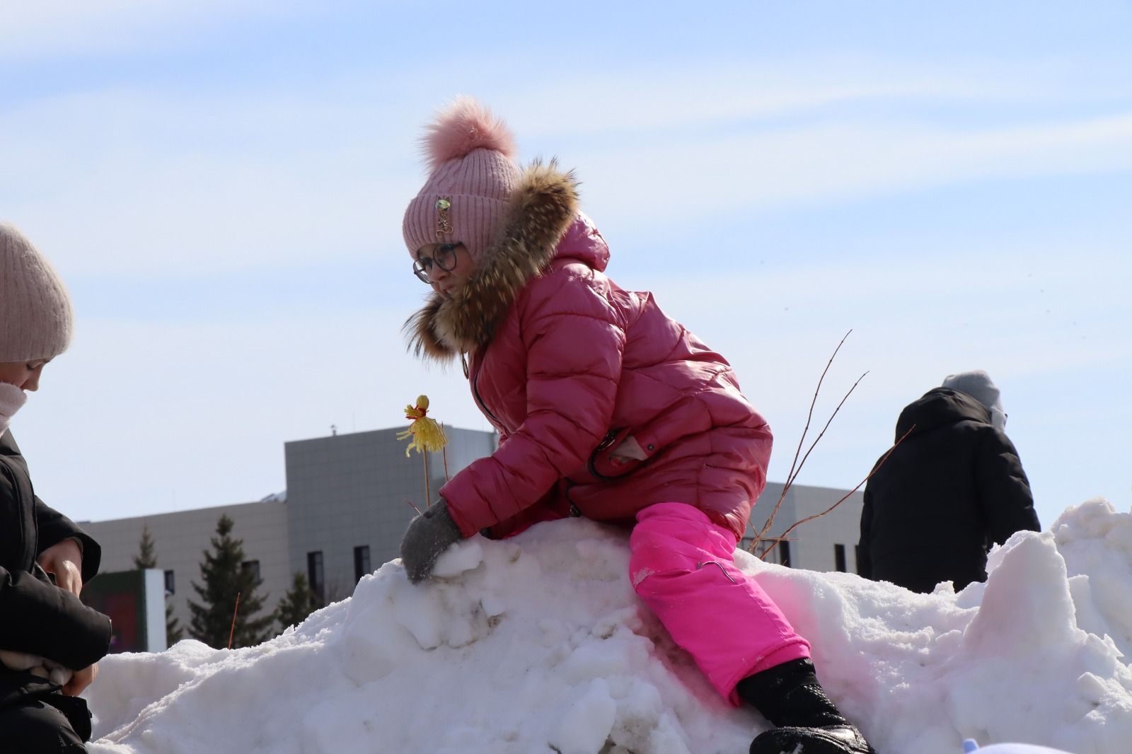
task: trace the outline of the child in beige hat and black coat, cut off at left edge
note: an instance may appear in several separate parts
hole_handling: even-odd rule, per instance
[[[35,496],[9,431],[71,319],[51,265],[0,224],[0,752],[85,752],[91,713],[78,694],[110,648],[110,618],[78,598],[98,543]]]

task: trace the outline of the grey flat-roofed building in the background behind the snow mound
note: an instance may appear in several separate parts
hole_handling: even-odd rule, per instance
[[[222,515],[232,519],[232,535],[243,540],[246,567],[257,569],[263,580],[265,611],[275,609],[295,572],[307,574],[323,600],[341,600],[353,593],[362,575],[398,556],[401,535],[415,515],[413,506],[424,507],[424,459],[415,452],[405,456],[405,440],[397,439],[398,431],[285,443],[285,495],[82,525],[102,545],[103,571],[131,569],[143,528],[148,526],[173,615],[183,628],[190,620],[189,600],[199,601],[191,584],[200,583],[203,552],[212,549]],[[434,500],[445,481],[445,463],[448,475],[455,474],[496,448],[494,432],[455,428],[446,432],[446,454],[428,454]],[[765,551],[770,538],[830,507],[846,492],[794,485],[756,554]],[[752,515],[753,528],[762,528],[781,494],[781,483],[767,485]],[[861,494],[855,492],[831,513],[792,531],[766,559],[797,568],[855,572],[860,511]],[[749,547],[753,533],[754,529],[740,547]]]

